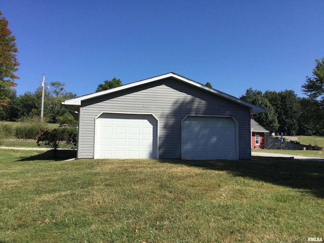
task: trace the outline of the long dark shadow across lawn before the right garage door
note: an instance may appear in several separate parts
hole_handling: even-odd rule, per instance
[[[207,170],[226,171],[240,177],[304,189],[324,198],[324,163],[303,160],[160,160]]]

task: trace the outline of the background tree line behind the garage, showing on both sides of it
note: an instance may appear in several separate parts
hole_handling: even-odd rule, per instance
[[[324,135],[324,58],[315,61],[313,76],[307,76],[301,87],[307,97],[298,97],[293,90],[263,93],[253,88],[248,89],[240,99],[266,110],[252,118],[267,130],[285,135]],[[122,85],[121,80],[114,77],[99,84],[96,92]],[[209,83],[206,85],[212,88]],[[50,83],[50,89],[45,92],[44,116],[50,123],[76,125],[74,118],[61,105],[62,101],[75,98],[76,94],[67,92],[64,86],[61,82]],[[15,91],[12,92],[8,97],[8,105],[1,105],[0,120],[15,121],[39,116],[41,97],[42,87],[20,96]]]

